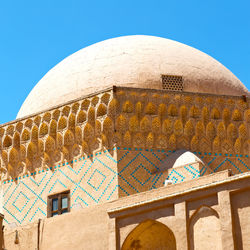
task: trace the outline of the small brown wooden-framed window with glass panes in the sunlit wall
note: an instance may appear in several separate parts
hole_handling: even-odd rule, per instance
[[[48,196],[48,211],[47,216],[53,217],[59,214],[64,214],[70,210],[70,192],[65,191],[58,194]]]

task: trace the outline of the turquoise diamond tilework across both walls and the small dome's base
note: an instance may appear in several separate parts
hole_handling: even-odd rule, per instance
[[[47,196],[70,189],[71,207],[80,203],[84,208],[163,186],[166,179],[180,183],[207,173],[207,168],[186,165],[159,171],[162,161],[174,151],[117,148],[79,158],[71,164],[61,164],[30,175],[17,182],[5,181],[4,221],[28,223],[45,217]],[[250,171],[247,155],[197,154],[213,171],[232,169],[234,174]]]

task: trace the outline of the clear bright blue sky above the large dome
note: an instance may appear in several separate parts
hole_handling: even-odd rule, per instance
[[[250,89],[249,0],[9,0],[0,3],[0,123],[66,56],[123,35],[155,35],[193,46]]]

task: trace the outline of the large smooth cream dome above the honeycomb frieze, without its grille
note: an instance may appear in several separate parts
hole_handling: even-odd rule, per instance
[[[160,37],[124,36],[81,49],[57,64],[30,92],[17,118],[112,85],[162,89],[162,75],[181,76],[187,92],[248,94],[227,68],[197,49]]]

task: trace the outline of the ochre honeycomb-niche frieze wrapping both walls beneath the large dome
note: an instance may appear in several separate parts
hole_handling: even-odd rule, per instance
[[[105,148],[248,155],[249,98],[116,87],[0,128],[2,178]]]

